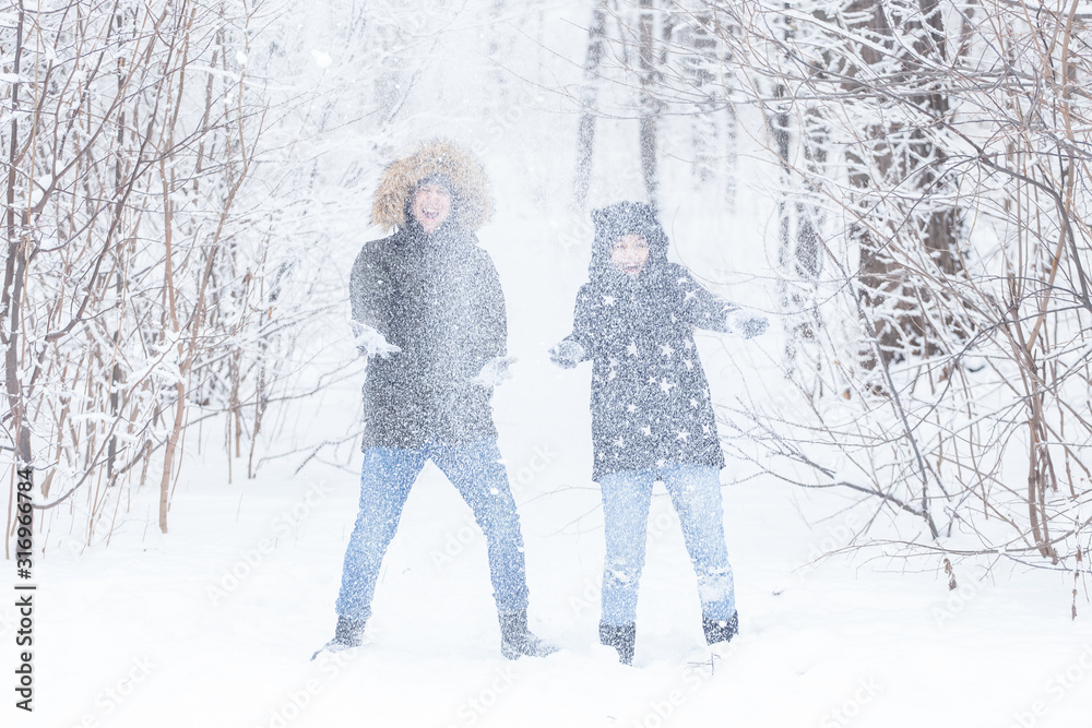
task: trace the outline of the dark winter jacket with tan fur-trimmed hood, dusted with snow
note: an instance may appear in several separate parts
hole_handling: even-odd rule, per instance
[[[349,282],[353,320],[402,350],[368,361],[365,450],[417,449],[429,437],[460,443],[497,434],[491,391],[472,381],[485,362],[505,356],[508,336],[500,279],[467,225],[480,224],[488,210],[475,165],[447,145],[424,146],[391,165],[377,191],[373,222],[399,229],[357,255]],[[413,186],[438,170],[455,186],[452,213],[426,235],[405,208]],[[402,215],[392,218],[381,203],[400,195]]]

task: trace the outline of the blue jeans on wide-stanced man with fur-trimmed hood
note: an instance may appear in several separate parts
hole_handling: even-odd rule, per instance
[[[501,613],[527,608],[523,536],[508,474],[495,438],[459,444],[426,442],[420,450],[369,447],[360,476],[360,512],[345,550],[335,609],[342,617],[371,616],[379,566],[394,538],[402,506],[425,463],[431,460],[474,512],[485,533],[492,596]]]

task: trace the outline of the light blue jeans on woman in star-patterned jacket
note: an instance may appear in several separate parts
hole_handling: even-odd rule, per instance
[[[667,486],[679,515],[682,539],[698,574],[702,614],[715,620],[729,619],[736,611],[736,595],[724,542],[717,468],[673,463],[661,468],[612,473],[600,479],[607,546],[603,622],[620,626],[637,619],[649,506],[652,486],[657,479]]]

